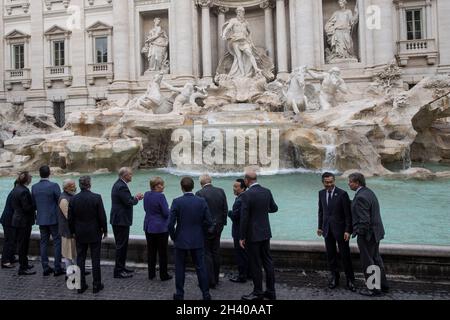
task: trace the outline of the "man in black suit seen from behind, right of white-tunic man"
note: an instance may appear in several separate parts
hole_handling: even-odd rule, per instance
[[[87,250],[91,250],[93,293],[103,290],[100,269],[100,252],[102,236],[108,236],[106,213],[101,195],[91,192],[91,178],[81,177],[79,180],[81,192],[75,195],[69,203],[69,229],[75,235],[77,243],[77,265],[81,271],[81,288],[83,293],[88,288],[86,284],[85,263]]]

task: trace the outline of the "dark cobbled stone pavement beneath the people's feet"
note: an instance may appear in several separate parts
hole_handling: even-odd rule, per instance
[[[102,281],[105,290],[92,294],[92,276],[87,276],[89,289],[83,295],[67,289],[64,277],[43,277],[39,261],[33,261],[37,274],[18,276],[16,269],[0,270],[0,300],[170,300],[175,290],[173,280],[161,282],[148,280],[145,265],[129,265],[136,270],[131,279],[114,279],[111,263],[102,262]],[[173,270],[170,270],[173,274]],[[251,292],[251,282],[235,284],[228,281],[229,270],[223,271],[217,289],[211,290],[214,300],[239,300],[243,294]],[[358,277],[358,275],[357,275]],[[280,300],[360,300],[365,297],[344,288],[326,288],[326,274],[277,270],[277,295]],[[345,280],[345,279],[343,279]],[[450,282],[424,282],[408,278],[390,278],[392,291],[377,299],[388,300],[449,300]],[[343,282],[343,281],[341,281]],[[357,284],[363,285],[361,275]],[[201,298],[194,272],[189,271],[185,285],[186,300]]]

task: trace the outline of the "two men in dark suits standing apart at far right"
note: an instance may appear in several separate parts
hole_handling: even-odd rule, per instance
[[[383,260],[380,256],[380,241],[384,238],[380,205],[375,193],[367,188],[364,175],[352,173],[348,184],[355,191],[353,201],[348,193],[336,186],[336,177],[326,172],[322,175],[324,189],[319,192],[319,214],[317,235],[324,237],[330,277],[328,287],[334,289],[339,285],[338,250],[345,271],[347,288],[356,291],[353,272],[350,239],[357,238],[362,270],[368,279],[370,266],[380,268],[379,288],[360,290],[365,296],[377,296],[389,291]]]

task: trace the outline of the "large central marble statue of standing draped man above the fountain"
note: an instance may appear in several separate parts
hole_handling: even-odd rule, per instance
[[[218,76],[226,74],[232,79],[264,76],[268,80],[273,79],[273,63],[253,43],[243,7],[236,9],[236,18],[224,24],[222,38],[228,42],[228,52],[219,63]]]

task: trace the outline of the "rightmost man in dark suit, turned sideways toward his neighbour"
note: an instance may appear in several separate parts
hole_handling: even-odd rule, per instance
[[[358,248],[364,275],[367,268],[380,268],[380,288],[364,288],[360,291],[365,296],[377,296],[389,292],[389,284],[384,271],[383,259],[380,255],[380,241],[384,239],[384,227],[381,220],[380,205],[375,193],[366,187],[366,179],[361,173],[352,173],[348,178],[350,189],[356,191],[352,201],[353,237],[358,237]]]

